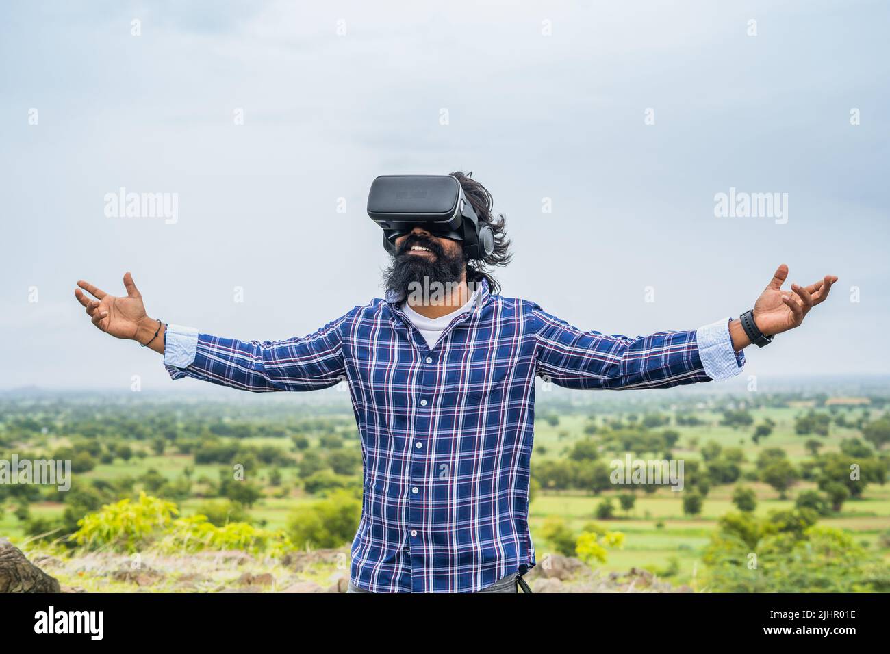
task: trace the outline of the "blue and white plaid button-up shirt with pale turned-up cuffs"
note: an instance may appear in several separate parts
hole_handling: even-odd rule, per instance
[[[260,343],[170,325],[165,363],[246,391],[349,384],[364,493],[352,583],[475,592],[535,565],[529,462],[535,376],[569,388],[658,388],[738,374],[728,319],[628,338],[581,331],[484,284],[431,350],[399,298],[302,338]]]

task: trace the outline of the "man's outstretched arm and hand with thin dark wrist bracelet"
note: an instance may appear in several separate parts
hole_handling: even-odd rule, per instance
[[[189,376],[253,392],[312,391],[344,379],[339,326],[345,317],[302,338],[239,341],[151,319],[129,272],[124,275],[125,297],[109,295],[85,281],[78,281],[77,286],[77,300],[93,325],[164,354],[174,379]]]

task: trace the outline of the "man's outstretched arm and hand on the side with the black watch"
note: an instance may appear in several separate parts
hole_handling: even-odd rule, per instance
[[[797,327],[825,300],[837,277],[827,275],[808,287],[782,291],[788,266],[782,264],[757,298],[756,327],[766,336]],[[692,331],[657,332],[635,338],[582,331],[535,311],[538,374],[570,388],[658,388],[723,380],[737,375],[741,352],[751,342],[739,319],[724,319]]]

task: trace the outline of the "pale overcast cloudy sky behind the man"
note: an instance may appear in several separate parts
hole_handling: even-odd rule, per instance
[[[4,2],[0,389],[152,391],[77,279],[201,332],[305,335],[383,295],[379,174],[473,171],[503,295],[624,335],[839,277],[746,375],[890,370],[884,2]],[[174,214],[115,215],[118,190]],[[776,193],[782,215],[718,215]],[[172,205],[170,205],[172,206]],[[740,212],[744,213],[744,212]]]

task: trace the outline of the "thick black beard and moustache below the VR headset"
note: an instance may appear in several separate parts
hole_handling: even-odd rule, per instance
[[[411,246],[427,247],[435,258],[430,260],[425,254],[409,254]],[[463,250],[449,256],[433,238],[409,234],[398,252],[392,255],[389,268],[384,270],[384,286],[386,290],[400,295],[408,295],[412,285],[417,287],[417,284],[425,287],[432,282],[440,282],[447,287],[464,279],[465,266]]]

